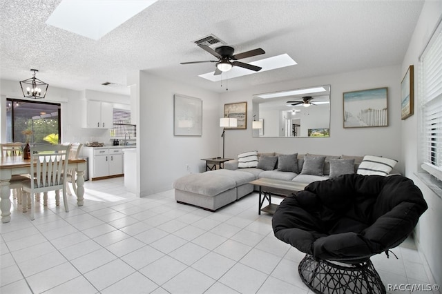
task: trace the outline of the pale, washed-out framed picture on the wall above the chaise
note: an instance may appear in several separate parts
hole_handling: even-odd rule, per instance
[[[173,135],[202,135],[202,100],[173,95]]]

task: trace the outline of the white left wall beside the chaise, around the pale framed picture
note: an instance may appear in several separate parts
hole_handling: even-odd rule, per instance
[[[173,95],[202,99],[202,136],[173,135]],[[140,191],[169,190],[173,181],[204,170],[202,158],[222,155],[221,104],[216,93],[140,72]]]

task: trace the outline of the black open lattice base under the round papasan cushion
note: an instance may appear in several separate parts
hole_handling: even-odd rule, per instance
[[[385,286],[370,259],[359,264],[334,264],[316,261],[305,255],[299,264],[299,275],[311,290],[318,294],[385,294]]]

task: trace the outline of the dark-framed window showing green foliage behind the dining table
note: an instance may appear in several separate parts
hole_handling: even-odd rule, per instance
[[[8,142],[59,144],[60,104],[6,99],[6,139]]]

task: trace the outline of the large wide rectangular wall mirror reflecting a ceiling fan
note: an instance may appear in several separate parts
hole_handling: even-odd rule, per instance
[[[253,95],[253,137],[329,137],[330,85]]]

